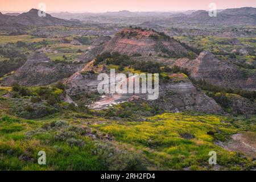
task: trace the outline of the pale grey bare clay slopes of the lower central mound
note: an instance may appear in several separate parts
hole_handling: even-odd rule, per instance
[[[91,71],[94,71],[92,73]],[[105,65],[93,65],[90,61],[85,67],[67,78],[67,94],[72,98],[83,93],[97,92],[97,73],[108,73]],[[200,90],[193,86],[192,82],[182,74],[171,75],[173,81],[162,82],[159,85],[159,98],[148,101],[147,94],[106,94],[100,100],[90,105],[93,109],[104,109],[109,105],[132,100],[143,100],[151,105],[158,105],[164,110],[170,111],[200,111],[204,113],[220,113],[221,107]]]

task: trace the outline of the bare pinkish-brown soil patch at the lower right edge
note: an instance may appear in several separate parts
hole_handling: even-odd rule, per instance
[[[256,133],[245,132],[232,135],[232,140],[224,144],[229,151],[243,152],[256,158]]]

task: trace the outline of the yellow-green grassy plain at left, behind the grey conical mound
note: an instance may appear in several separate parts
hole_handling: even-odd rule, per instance
[[[75,37],[67,38],[70,41],[73,39]],[[0,36],[0,44],[2,45],[0,48],[3,51],[15,50],[15,52],[26,54],[29,57],[35,50],[43,48],[42,52],[46,53],[52,61],[73,61],[89,47],[63,42],[64,39],[62,38],[38,38],[31,35]],[[0,54],[0,61],[4,60],[10,61],[10,58]]]

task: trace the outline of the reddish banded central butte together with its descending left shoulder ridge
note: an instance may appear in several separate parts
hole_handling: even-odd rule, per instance
[[[93,44],[75,61],[88,63],[103,52],[119,52],[129,56],[162,53],[176,58],[185,57],[188,54],[187,49],[169,36],[141,28],[123,28],[112,39],[104,38],[100,44]]]

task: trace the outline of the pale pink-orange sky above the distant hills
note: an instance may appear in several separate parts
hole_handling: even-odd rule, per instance
[[[217,9],[256,7],[256,0],[0,0],[0,11],[28,11],[46,4],[46,11],[183,11],[208,10],[209,3]]]

